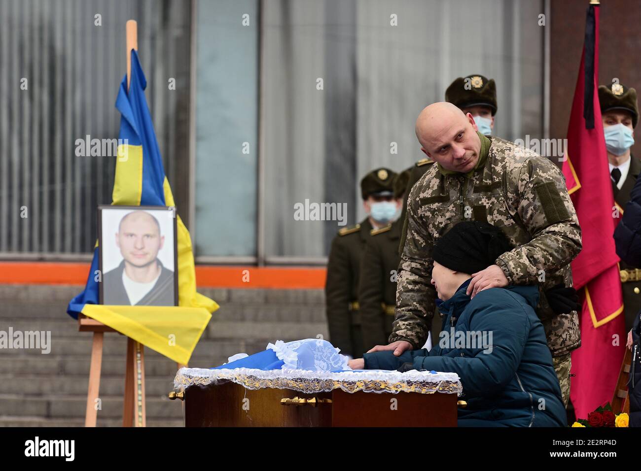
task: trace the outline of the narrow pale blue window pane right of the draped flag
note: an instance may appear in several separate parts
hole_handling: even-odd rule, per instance
[[[258,1],[199,1],[196,51],[196,254],[254,256]]]

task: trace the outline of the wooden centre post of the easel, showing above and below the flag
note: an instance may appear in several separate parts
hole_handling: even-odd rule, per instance
[[[138,51],[138,24],[128,20],[125,25],[127,47],[127,92],[131,84],[131,49]],[[127,358],[122,404],[123,427],[146,427],[145,355],[144,347],[127,338]],[[133,422],[133,423],[132,423]]]

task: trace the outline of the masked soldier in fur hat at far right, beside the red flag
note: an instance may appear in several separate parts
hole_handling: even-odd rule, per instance
[[[637,90],[620,83],[613,83],[609,87],[601,85],[599,103],[614,201],[621,210],[626,207],[630,192],[641,172],[641,161],[630,154],[630,147],[635,143],[634,128],[639,117]],[[620,262],[619,269],[628,332],[641,310],[641,270],[624,261]]]

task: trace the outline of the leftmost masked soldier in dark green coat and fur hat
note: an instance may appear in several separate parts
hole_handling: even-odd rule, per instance
[[[358,304],[360,260],[372,229],[387,226],[400,209],[394,201],[395,176],[392,170],[380,168],[363,177],[360,186],[367,217],[356,226],[340,229],[329,249],[325,282],[329,341],[352,358],[365,352]]]

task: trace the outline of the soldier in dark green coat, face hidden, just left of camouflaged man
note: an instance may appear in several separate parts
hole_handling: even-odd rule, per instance
[[[394,198],[399,206],[410,170],[399,173],[394,181]],[[400,224],[402,220],[396,219],[385,227],[372,229],[361,258],[358,304],[365,350],[387,343],[387,338],[392,333],[397,270],[401,261],[397,252],[401,236]]]

